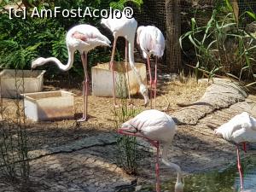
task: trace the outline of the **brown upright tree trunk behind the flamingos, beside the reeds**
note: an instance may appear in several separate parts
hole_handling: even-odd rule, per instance
[[[166,0],[166,65],[172,73],[181,69],[180,33],[180,0]]]

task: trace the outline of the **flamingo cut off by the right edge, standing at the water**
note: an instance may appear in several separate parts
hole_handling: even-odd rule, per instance
[[[240,163],[239,143],[243,143],[246,152],[246,143],[256,143],[256,119],[249,113],[237,114],[224,125],[214,130],[216,135],[222,136],[225,140],[236,143],[237,168],[240,175],[241,189],[243,189],[243,177]]]

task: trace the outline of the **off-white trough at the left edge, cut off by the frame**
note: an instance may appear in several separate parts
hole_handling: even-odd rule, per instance
[[[0,73],[1,96],[16,98],[21,93],[42,91],[44,73],[42,70],[3,69]]]

